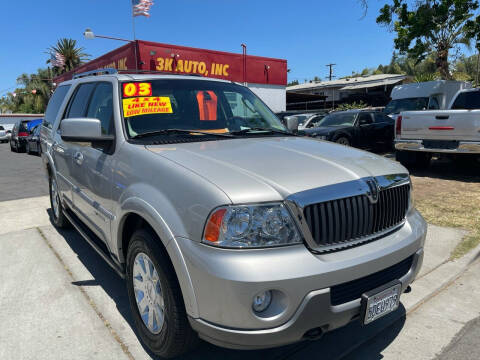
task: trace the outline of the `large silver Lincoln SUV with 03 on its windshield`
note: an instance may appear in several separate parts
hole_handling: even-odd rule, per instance
[[[42,127],[53,221],[126,279],[141,341],[260,349],[395,311],[426,224],[400,164],[299,137],[248,88],[77,75]]]

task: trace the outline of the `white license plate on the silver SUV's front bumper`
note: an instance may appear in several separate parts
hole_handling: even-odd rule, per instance
[[[363,323],[369,324],[398,309],[402,285],[395,281],[362,295]]]

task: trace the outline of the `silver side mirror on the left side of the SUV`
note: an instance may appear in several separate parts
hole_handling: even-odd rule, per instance
[[[98,119],[64,119],[60,123],[60,135],[65,141],[74,142],[110,142],[114,137],[102,135],[102,126]]]

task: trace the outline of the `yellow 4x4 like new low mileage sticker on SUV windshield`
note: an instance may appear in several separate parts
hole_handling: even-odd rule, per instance
[[[171,114],[172,104],[168,96],[151,96],[123,99],[123,116]]]

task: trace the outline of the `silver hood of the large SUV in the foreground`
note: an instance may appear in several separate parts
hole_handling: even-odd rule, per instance
[[[407,172],[384,157],[307,137],[241,138],[146,148],[214,183],[233,203],[283,200],[321,186]]]

